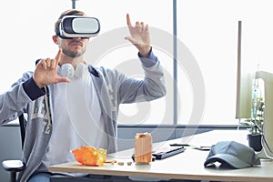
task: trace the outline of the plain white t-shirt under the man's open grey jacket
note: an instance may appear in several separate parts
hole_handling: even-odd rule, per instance
[[[70,151],[76,147],[107,147],[105,124],[90,76],[56,84],[54,96],[53,130],[44,167],[75,161]]]

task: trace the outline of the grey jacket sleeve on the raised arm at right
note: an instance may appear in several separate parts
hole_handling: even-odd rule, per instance
[[[117,94],[119,103],[151,101],[166,95],[164,73],[157,56],[151,51],[149,58],[139,58],[144,78],[136,79],[120,74]]]

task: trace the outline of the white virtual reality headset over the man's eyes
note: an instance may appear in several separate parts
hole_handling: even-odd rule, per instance
[[[65,15],[59,24],[59,36],[62,38],[88,38],[96,36],[100,24],[96,17],[84,15]]]

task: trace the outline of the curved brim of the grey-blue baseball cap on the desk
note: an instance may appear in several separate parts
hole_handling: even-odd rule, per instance
[[[223,161],[226,162],[230,167],[234,168],[244,168],[250,166],[247,162],[242,161],[238,157],[234,157],[228,154],[217,154],[212,157],[207,157],[204,166],[207,167],[207,165],[213,164],[215,162],[223,163]]]

